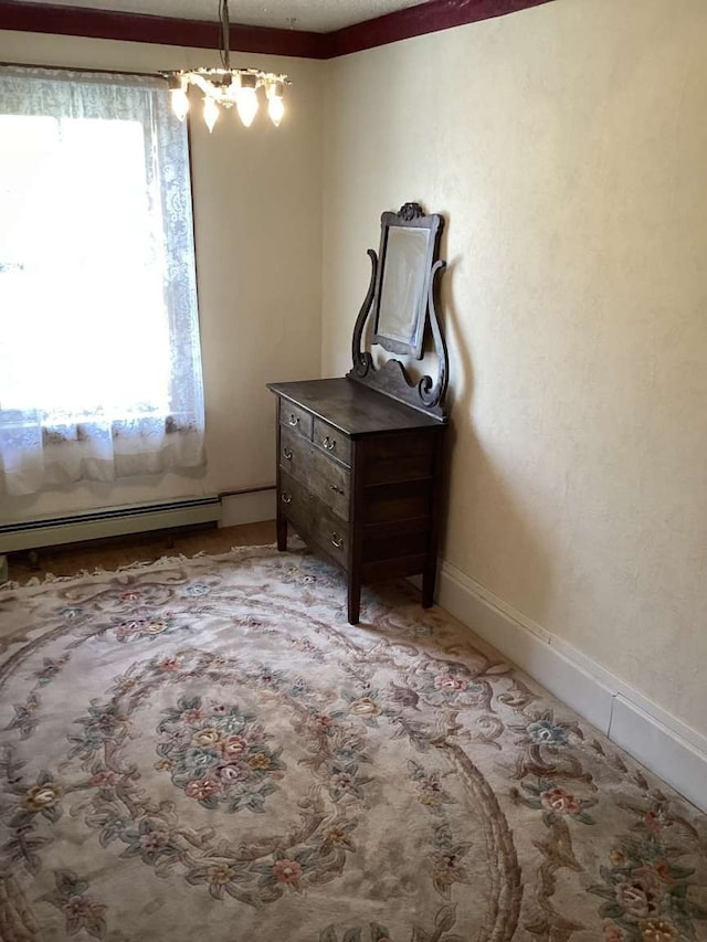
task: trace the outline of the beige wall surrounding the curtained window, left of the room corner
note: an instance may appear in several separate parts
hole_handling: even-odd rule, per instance
[[[275,404],[265,383],[316,377],[320,366],[324,66],[242,59],[286,72],[294,84],[277,130],[264,115],[250,130],[225,115],[211,137],[199,115],[192,121],[205,476],[9,499],[0,501],[0,520],[274,483]],[[205,50],[7,31],[0,61],[149,72],[218,64]]]

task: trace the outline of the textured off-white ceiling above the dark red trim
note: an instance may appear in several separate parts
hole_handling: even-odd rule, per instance
[[[34,6],[83,7],[187,20],[219,19],[219,0],[31,0]],[[327,33],[421,0],[230,0],[231,23]]]

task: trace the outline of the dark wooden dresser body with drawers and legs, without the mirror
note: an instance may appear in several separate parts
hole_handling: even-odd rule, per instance
[[[346,377],[270,383],[277,395],[277,547],[287,523],[361,584],[422,573],[432,604],[446,425]]]

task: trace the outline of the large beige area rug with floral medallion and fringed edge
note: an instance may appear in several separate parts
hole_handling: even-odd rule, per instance
[[[0,592],[0,938],[707,940],[707,818],[407,583]]]

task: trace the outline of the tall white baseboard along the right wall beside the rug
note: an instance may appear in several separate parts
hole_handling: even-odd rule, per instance
[[[707,737],[446,562],[440,567],[437,602],[612,742],[707,811]]]

